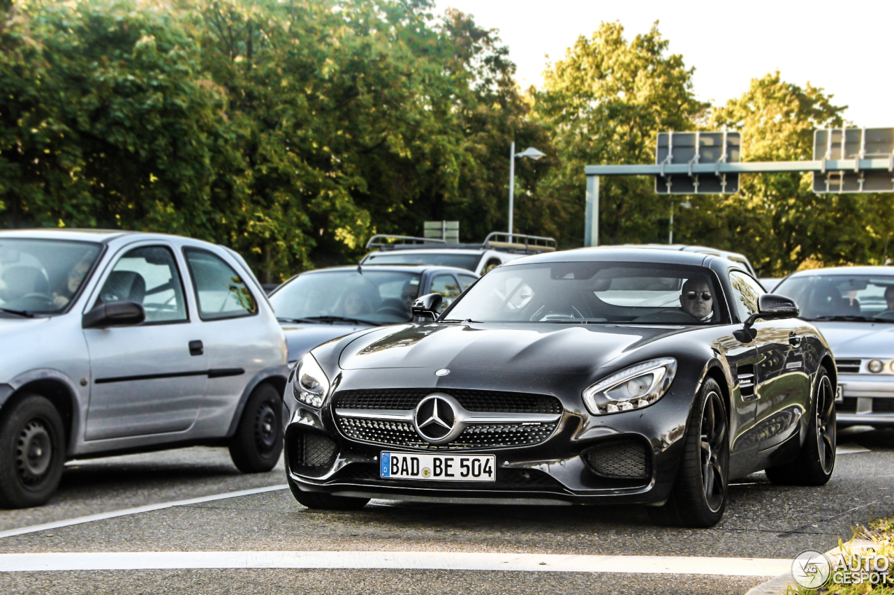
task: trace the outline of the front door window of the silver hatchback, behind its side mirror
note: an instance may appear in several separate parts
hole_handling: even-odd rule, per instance
[[[173,253],[166,247],[138,247],[118,259],[99,292],[96,305],[119,300],[143,306],[146,323],[189,320],[180,272]]]

